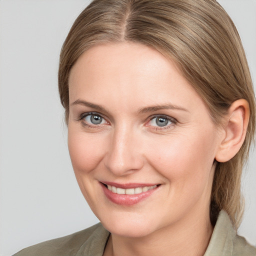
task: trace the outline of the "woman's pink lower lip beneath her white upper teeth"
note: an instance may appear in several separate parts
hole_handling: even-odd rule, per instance
[[[142,192],[139,194],[117,194],[108,190],[107,187],[105,187],[101,182],[100,185],[103,188],[105,196],[111,202],[119,205],[134,205],[136,203],[139,203],[140,201],[150,196],[158,188],[158,186],[156,186],[155,188],[152,188],[150,190],[147,190],[146,192]]]

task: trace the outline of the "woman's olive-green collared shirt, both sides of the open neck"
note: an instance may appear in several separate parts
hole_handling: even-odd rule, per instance
[[[109,232],[97,223],[79,232],[38,243],[13,256],[102,256]],[[237,235],[227,213],[220,211],[204,256],[256,256],[256,248]]]

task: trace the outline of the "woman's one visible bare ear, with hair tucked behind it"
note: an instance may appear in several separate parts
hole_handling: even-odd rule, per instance
[[[215,159],[218,162],[230,160],[244,141],[249,121],[249,104],[241,98],[235,100],[228,109],[222,129],[224,138],[220,141]]]

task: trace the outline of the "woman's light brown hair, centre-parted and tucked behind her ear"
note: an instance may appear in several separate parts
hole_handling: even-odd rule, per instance
[[[241,171],[254,138],[255,100],[232,20],[215,0],[93,0],[73,23],[60,53],[58,86],[66,122],[68,77],[76,60],[93,45],[124,41],[145,44],[174,60],[216,125],[233,101],[248,101],[250,119],[244,143],[232,159],[216,162],[209,209],[213,225],[224,209],[238,227]]]

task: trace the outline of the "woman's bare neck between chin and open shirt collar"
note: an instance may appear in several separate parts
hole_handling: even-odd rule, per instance
[[[209,212],[203,213],[200,217],[198,217],[198,212],[189,214],[182,220],[143,237],[123,237],[111,234],[104,256],[202,256],[213,231]]]

